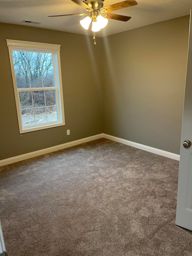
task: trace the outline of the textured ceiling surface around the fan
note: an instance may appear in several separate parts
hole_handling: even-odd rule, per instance
[[[123,1],[123,0],[122,0]],[[114,14],[131,16],[127,22],[111,20],[96,36],[104,37],[149,24],[170,20],[190,14],[191,0],[136,0],[138,5],[113,11]],[[105,0],[104,7],[118,0]],[[53,29],[82,35],[92,35],[91,28],[85,30],[79,21],[83,16],[47,17],[50,15],[86,13],[70,0],[0,0],[0,22],[44,29]],[[21,23],[23,20],[42,22],[39,25]],[[90,26],[91,27],[91,26]]]

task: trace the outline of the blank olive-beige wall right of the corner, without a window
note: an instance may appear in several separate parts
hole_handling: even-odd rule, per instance
[[[104,38],[104,133],[179,154],[189,16]]]

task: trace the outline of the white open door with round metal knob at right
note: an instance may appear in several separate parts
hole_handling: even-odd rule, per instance
[[[190,15],[189,49],[182,138],[179,164],[176,225],[192,230],[192,18]],[[186,141],[187,140],[187,141]],[[184,142],[185,141],[185,142]]]

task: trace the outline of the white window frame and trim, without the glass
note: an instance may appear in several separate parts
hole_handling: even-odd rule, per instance
[[[10,39],[6,39],[6,41],[7,41],[7,46],[9,49],[11,74],[12,74],[12,79],[13,79],[13,88],[14,88],[14,94],[15,94],[18,124],[19,124],[19,133],[21,134],[21,133],[38,131],[38,130],[42,130],[42,129],[65,125],[63,90],[62,90],[62,79],[61,79],[61,62],[60,62],[60,46],[61,45],[36,43],[36,42],[28,42],[28,41],[18,41],[18,40],[10,40]],[[24,88],[24,89],[17,88],[15,69],[14,69],[14,63],[13,63],[13,54],[12,54],[13,50],[52,53],[55,87],[44,87],[43,90],[44,91],[51,90],[51,89],[55,90],[56,101],[57,101],[57,114],[58,114],[57,121],[46,122],[46,123],[42,123],[42,124],[35,124],[35,125],[30,125],[30,126],[22,125],[22,115],[21,115],[21,107],[20,107],[20,100],[19,100],[19,92],[41,91],[42,87],[41,88],[27,88],[27,89],[26,88]]]

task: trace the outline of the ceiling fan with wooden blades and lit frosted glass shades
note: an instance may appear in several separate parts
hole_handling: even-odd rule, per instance
[[[116,11],[119,9],[137,5],[137,2],[135,0],[126,0],[113,5],[105,6],[103,8],[104,0],[85,0],[85,1],[71,0],[71,1],[81,6],[83,9],[85,9],[87,13],[86,14],[76,13],[76,14],[53,15],[48,17],[61,17],[61,16],[71,16],[71,15],[87,16],[88,15],[83,20],[81,20],[80,23],[84,29],[88,29],[89,25],[92,22],[91,30],[94,32],[93,39],[95,39],[95,32],[100,31],[102,28],[104,28],[107,25],[108,23],[107,19],[121,20],[121,21],[128,21],[131,19],[131,17],[129,16],[109,13],[110,11]]]

